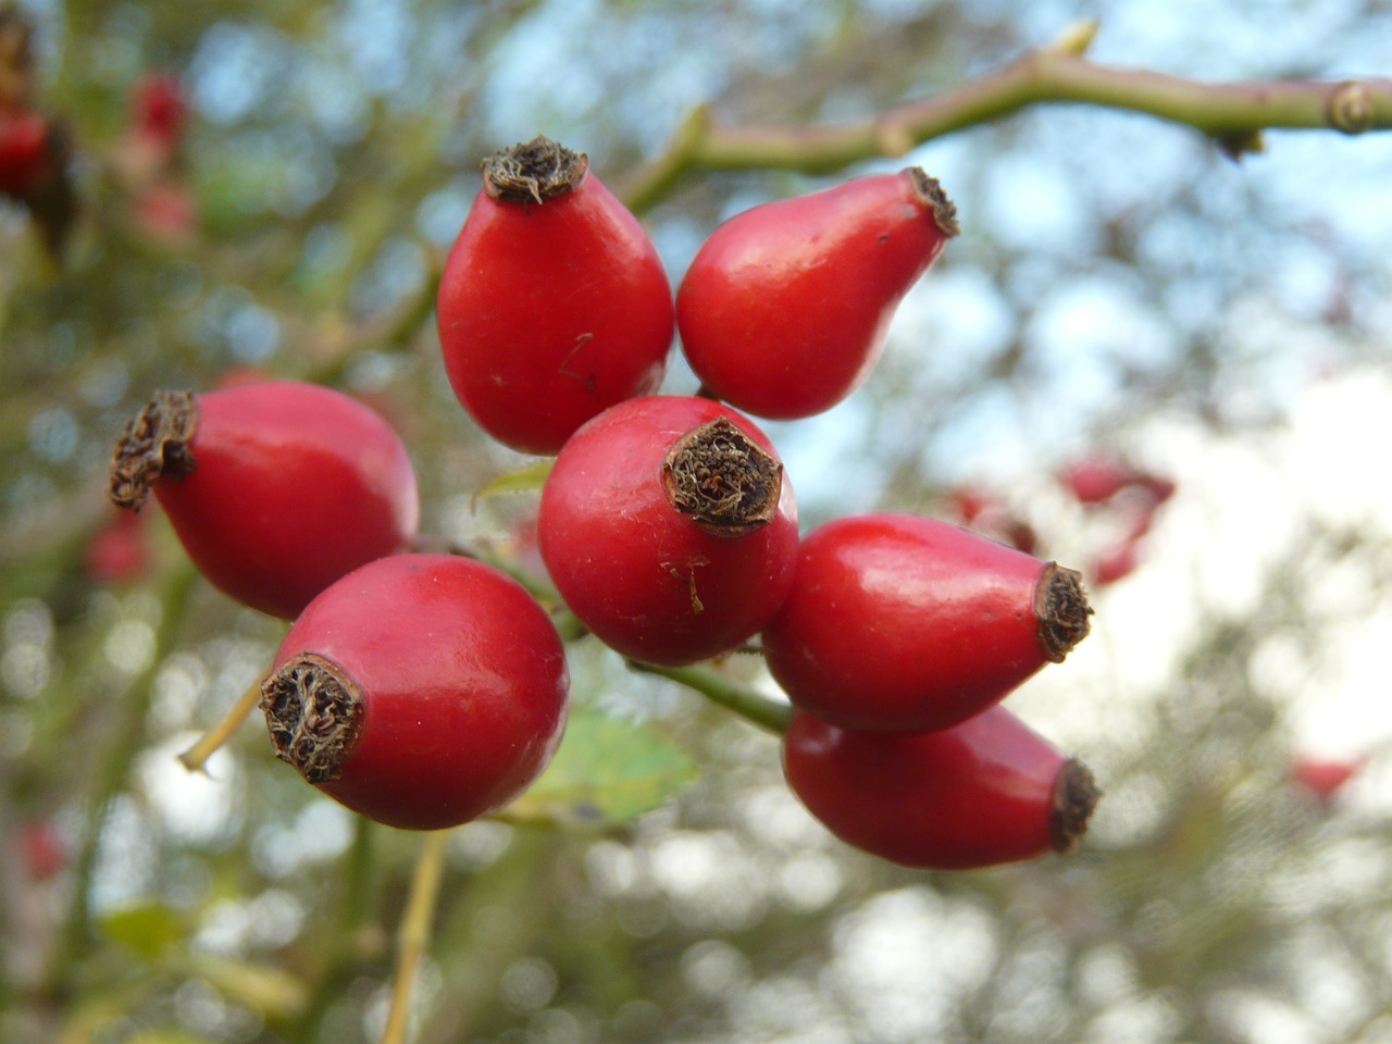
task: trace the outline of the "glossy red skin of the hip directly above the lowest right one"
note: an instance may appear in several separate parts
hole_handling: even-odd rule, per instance
[[[837,519],[803,537],[764,658],[796,706],[845,728],[945,728],[1048,663],[1033,608],[1044,568],[933,518]]]

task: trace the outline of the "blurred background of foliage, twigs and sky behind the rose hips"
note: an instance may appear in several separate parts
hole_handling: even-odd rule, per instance
[[[1091,57],[1211,79],[1377,72],[1392,42],[1381,0],[22,10],[79,213],[54,263],[0,207],[15,1044],[352,1044],[390,992],[416,839],[319,798],[256,722],[207,777],[175,760],[281,626],[192,575],[157,511],[113,521],[107,452],[150,391],[245,370],[351,390],[411,447],[427,530],[535,561],[535,494],[470,505],[526,459],[458,408],[432,322],[480,157],[541,132],[622,188],[696,106],[864,118],[1084,15]],[[152,75],[188,106],[153,156]],[[800,810],[774,738],[580,640],[567,775],[451,838],[413,1038],[1392,1040],[1389,145],[1274,132],[1233,163],[1050,106],[820,178],[679,180],[643,213],[674,284],[757,202],[910,163],[942,180],[963,235],[870,383],[767,429],[806,526],[986,523],[988,503],[998,533],[1089,569],[1094,638],[1012,706],[1107,798],[1068,859],[899,870]],[[679,359],[665,387],[695,388]],[[1134,505],[1057,477],[1098,454],[1175,486],[1111,565]]]

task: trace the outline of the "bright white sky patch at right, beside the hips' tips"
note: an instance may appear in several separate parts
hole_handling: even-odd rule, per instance
[[[1143,565],[1094,592],[1093,636],[1068,661],[1027,683],[1016,700],[1043,729],[1075,748],[1105,749],[1126,706],[1162,697],[1176,654],[1196,639],[1205,606],[1242,619],[1258,608],[1265,578],[1299,579],[1317,640],[1276,632],[1251,663],[1257,692],[1290,710],[1304,753],[1345,757],[1392,749],[1386,650],[1392,649],[1392,376],[1360,367],[1311,383],[1288,423],[1267,436],[1214,436],[1155,418],[1147,459],[1178,482],[1144,548]],[[1308,568],[1307,521],[1347,528],[1366,546]],[[1062,555],[1061,555],[1062,557]],[[1066,562],[1065,562],[1066,564]],[[1313,651],[1311,651],[1313,650]],[[1392,773],[1368,771],[1352,788],[1360,803],[1392,807]]]

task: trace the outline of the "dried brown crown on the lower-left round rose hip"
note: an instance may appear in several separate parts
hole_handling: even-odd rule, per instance
[[[362,693],[338,664],[299,653],[262,683],[260,709],[276,757],[308,782],[342,775],[362,732]]]

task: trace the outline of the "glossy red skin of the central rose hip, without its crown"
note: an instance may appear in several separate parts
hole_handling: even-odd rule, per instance
[[[739,537],[702,532],[663,493],[672,443],[715,418],[774,452],[728,406],[653,395],[576,432],[541,490],[537,533],[551,580],[585,626],[633,660],[679,667],[727,653],[768,621],[792,583],[798,507],[786,473],[775,518]]]

